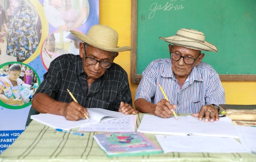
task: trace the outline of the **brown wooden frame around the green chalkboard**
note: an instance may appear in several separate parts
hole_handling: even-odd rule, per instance
[[[137,0],[132,0],[131,12],[131,80],[133,83],[139,83],[142,74],[137,74]],[[153,61],[153,60],[152,60]],[[221,81],[256,81],[254,74],[220,74]]]

